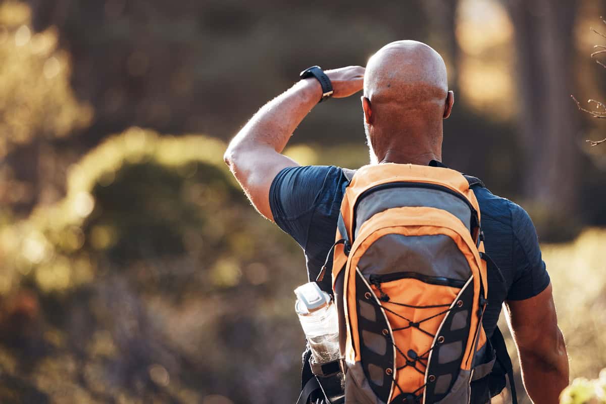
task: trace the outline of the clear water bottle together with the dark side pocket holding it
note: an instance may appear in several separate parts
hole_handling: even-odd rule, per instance
[[[345,402],[345,376],[339,366],[339,317],[330,295],[318,283],[295,289],[295,311],[311,350],[311,372],[320,383],[327,404]],[[326,365],[326,366],[324,366]]]

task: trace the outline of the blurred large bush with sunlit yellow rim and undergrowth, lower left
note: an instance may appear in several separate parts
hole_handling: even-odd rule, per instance
[[[280,381],[296,380],[302,336],[284,307],[304,267],[223,151],[132,128],[72,167],[59,204],[0,227],[3,377],[52,402],[295,395]]]

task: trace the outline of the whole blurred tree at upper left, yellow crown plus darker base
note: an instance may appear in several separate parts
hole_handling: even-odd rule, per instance
[[[13,213],[61,197],[55,148],[93,117],[74,97],[56,30],[34,33],[29,20],[27,5],[0,4],[0,205]]]

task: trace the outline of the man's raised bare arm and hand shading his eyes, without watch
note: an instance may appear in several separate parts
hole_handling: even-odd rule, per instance
[[[333,97],[343,98],[362,90],[364,67],[350,66],[324,72],[333,86]],[[299,81],[268,102],[248,121],[225,151],[225,163],[255,208],[273,220],[269,205],[271,182],[282,168],[298,165],[282,150],[296,127],[322,97],[315,78]]]

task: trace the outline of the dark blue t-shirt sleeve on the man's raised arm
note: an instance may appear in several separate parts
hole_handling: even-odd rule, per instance
[[[310,220],[324,183],[338,168],[319,165],[287,167],[271,183],[269,203],[273,220],[305,248]],[[335,173],[333,173],[335,171]]]

